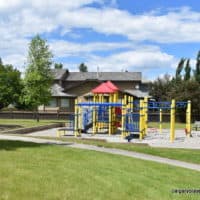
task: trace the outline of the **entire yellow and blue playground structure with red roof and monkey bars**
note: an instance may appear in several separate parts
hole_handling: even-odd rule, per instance
[[[175,114],[177,108],[186,108],[186,128],[191,135],[191,102],[156,102],[147,97],[134,100],[133,96],[123,95],[119,98],[119,89],[110,81],[102,83],[92,90],[93,101],[75,101],[73,130],[74,135],[81,136],[92,128],[95,135],[101,130],[107,130],[113,135],[121,131],[124,138],[130,134],[138,134],[142,140],[147,135],[151,111],[159,113],[159,129],[162,133],[163,111],[170,112],[170,141],[175,139]]]

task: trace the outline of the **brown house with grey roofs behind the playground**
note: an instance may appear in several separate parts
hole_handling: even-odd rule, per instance
[[[59,107],[67,112],[74,111],[75,98],[89,98],[91,90],[105,81],[112,81],[121,91],[136,98],[148,95],[142,82],[141,72],[69,72],[65,69],[53,69],[54,84],[50,107]]]

